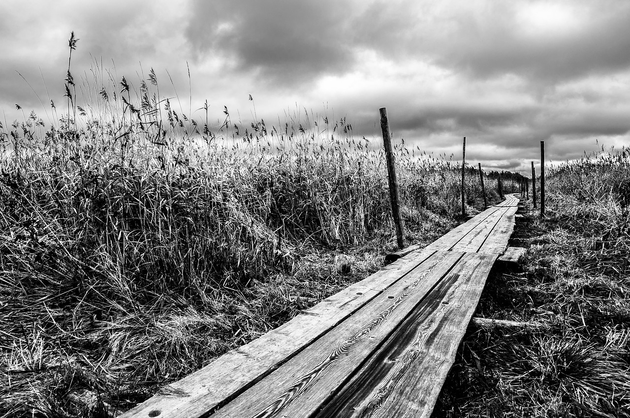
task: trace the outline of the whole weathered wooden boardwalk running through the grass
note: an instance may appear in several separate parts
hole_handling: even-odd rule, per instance
[[[517,205],[508,196],[122,417],[428,417]]]

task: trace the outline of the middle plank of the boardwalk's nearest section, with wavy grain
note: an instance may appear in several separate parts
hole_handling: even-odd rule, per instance
[[[311,417],[370,353],[400,329],[463,255],[434,254],[212,417]]]

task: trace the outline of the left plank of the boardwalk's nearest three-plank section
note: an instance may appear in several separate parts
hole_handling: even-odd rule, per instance
[[[122,418],[200,417],[256,383],[433,255],[414,252],[159,390]],[[154,415],[151,415],[154,414]]]

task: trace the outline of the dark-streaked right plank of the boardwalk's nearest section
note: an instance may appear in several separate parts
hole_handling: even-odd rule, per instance
[[[495,259],[464,255],[314,418],[429,417]]]

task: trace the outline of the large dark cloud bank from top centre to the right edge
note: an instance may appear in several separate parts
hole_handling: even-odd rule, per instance
[[[186,37],[200,59],[220,55],[226,70],[280,85],[353,71],[361,49],[473,77],[513,73],[532,88],[630,65],[630,3],[612,0],[198,0],[191,13]]]

